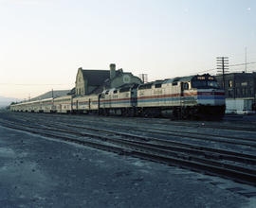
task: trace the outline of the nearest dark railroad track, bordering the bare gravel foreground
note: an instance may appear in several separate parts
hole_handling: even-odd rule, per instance
[[[231,153],[229,151],[214,152],[214,149],[196,149],[197,147],[181,147],[181,144],[166,144],[167,141],[156,141],[153,140],[154,138],[145,138],[129,133],[124,135],[123,133],[110,132],[109,130],[101,131],[91,128],[90,132],[88,132],[89,129],[87,128],[86,132],[81,132],[80,130],[75,130],[74,127],[66,129],[66,127],[60,127],[47,121],[41,125],[30,125],[1,119],[0,124],[10,129],[25,130],[57,140],[126,154],[157,163],[178,165],[229,178],[237,182],[256,185],[255,167],[254,169],[247,167],[247,165],[253,166],[256,164],[256,157],[253,155],[234,154],[234,152]],[[161,142],[162,144],[160,144]],[[227,164],[220,162],[220,160],[235,161],[235,163]]]

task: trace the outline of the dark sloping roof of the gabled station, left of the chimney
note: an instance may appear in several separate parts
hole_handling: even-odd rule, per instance
[[[101,85],[104,80],[109,78],[109,70],[82,69],[82,76],[88,81],[88,85]]]

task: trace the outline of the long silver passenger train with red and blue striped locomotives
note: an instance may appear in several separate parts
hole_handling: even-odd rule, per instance
[[[99,94],[64,95],[10,105],[12,112],[214,120],[223,118],[225,108],[225,92],[209,74],[130,83]]]

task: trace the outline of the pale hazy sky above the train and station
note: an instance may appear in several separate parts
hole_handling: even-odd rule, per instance
[[[256,61],[256,1],[0,0],[0,37],[4,96],[70,89],[79,67],[112,62],[150,80],[173,78],[215,68],[217,56],[243,63],[246,46]]]

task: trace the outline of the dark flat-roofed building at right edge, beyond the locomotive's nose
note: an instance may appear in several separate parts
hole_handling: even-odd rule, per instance
[[[229,73],[215,77],[225,88],[226,113],[253,113],[256,103],[256,72]],[[224,81],[225,80],[225,84]]]

